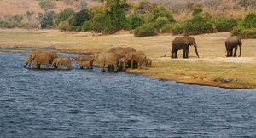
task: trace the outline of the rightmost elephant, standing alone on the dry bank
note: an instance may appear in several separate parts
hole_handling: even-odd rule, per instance
[[[241,56],[241,37],[227,37],[227,39],[225,40],[225,47],[226,47],[226,52],[227,52],[227,57],[236,57],[236,50],[237,47],[239,46],[240,48],[240,55]],[[233,55],[233,49],[235,49],[234,51],[234,55]]]

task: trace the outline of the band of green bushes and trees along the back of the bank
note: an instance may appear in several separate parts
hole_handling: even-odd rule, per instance
[[[154,36],[158,33],[196,35],[212,32],[231,32],[233,35],[245,38],[256,37],[255,13],[247,14],[244,20],[230,17],[214,18],[205,12],[201,5],[190,3],[188,8],[192,16],[187,20],[177,21],[172,13],[178,14],[178,11],[172,8],[166,9],[165,6],[146,0],[137,4],[126,3],[125,0],[98,1],[105,2],[104,6],[88,9],[87,3],[81,0],[80,10],[77,12],[68,8],[55,14],[52,10],[55,8],[53,1],[39,0],[38,4],[44,9],[44,13],[27,11],[26,23],[22,22],[24,16],[8,16],[0,21],[0,27],[56,27],[62,31],[94,31],[104,34],[133,30],[131,32],[134,32],[136,37]]]

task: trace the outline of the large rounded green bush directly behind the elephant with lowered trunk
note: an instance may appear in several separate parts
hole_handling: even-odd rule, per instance
[[[188,20],[184,26],[184,32],[188,35],[214,32],[213,24],[201,16],[195,16]]]

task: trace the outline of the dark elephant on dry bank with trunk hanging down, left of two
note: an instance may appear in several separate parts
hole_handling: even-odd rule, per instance
[[[189,58],[189,46],[194,45],[195,53],[199,58],[197,52],[197,44],[195,42],[194,37],[184,36],[184,37],[176,37],[172,41],[172,58],[177,58],[177,51],[182,49],[183,50],[183,58]]]

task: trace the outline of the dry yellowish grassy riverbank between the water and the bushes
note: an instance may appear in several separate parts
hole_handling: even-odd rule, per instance
[[[150,78],[174,80],[179,83],[252,89],[256,87],[256,39],[243,40],[241,58],[225,58],[224,39],[229,32],[194,36],[200,59],[190,49],[189,59],[170,58],[171,34],[156,37],[133,37],[128,32],[102,36],[92,32],[60,32],[57,30],[0,29],[2,48],[55,48],[61,52],[88,54],[108,51],[112,47],[133,47],[153,59],[153,67],[128,70]]]

